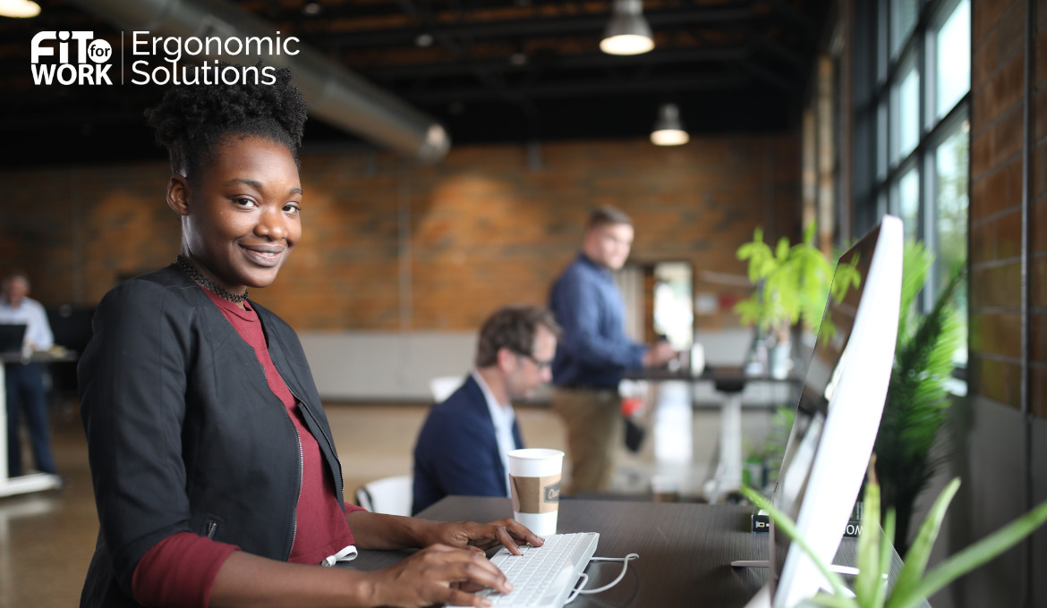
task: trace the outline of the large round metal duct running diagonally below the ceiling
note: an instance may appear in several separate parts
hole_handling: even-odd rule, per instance
[[[179,38],[275,39],[276,27],[224,0],[73,0],[76,4],[131,31]],[[287,32],[281,32],[287,38]],[[266,65],[289,67],[294,84],[309,103],[310,114],[379,145],[423,162],[447,154],[450,138],[435,118],[411,108],[316,50],[294,45],[294,55],[265,57]],[[203,57],[203,55],[200,55]],[[207,55],[244,64],[254,58]]]

